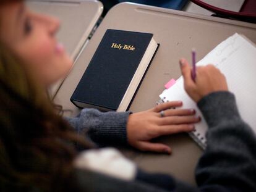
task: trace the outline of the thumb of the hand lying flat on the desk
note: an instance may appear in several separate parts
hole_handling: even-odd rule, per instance
[[[169,148],[169,146],[167,146],[166,144],[140,141],[138,147],[142,151],[164,152],[171,154],[171,148]]]

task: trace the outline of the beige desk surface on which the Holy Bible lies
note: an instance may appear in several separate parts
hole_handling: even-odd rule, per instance
[[[255,24],[139,4],[118,4],[103,19],[56,95],[55,101],[67,110],[67,116],[74,116],[79,112],[69,101],[70,96],[108,28],[153,33],[154,39],[160,43],[160,48],[130,107],[133,112],[155,106],[164,84],[181,75],[179,58],[190,59],[192,48],[197,49],[198,60],[202,59],[217,44],[236,32],[244,34],[256,43]],[[122,151],[145,170],[171,173],[185,182],[195,184],[194,169],[202,150],[185,133],[159,140],[173,148],[171,156],[142,153],[132,149]]]

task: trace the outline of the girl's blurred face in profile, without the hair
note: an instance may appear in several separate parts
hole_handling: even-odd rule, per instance
[[[37,83],[48,87],[66,75],[72,65],[56,40],[59,21],[36,14],[22,1],[0,2],[0,41],[23,62]]]

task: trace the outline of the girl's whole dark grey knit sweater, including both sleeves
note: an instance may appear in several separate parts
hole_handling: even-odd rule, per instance
[[[75,170],[75,191],[256,191],[256,137],[240,117],[234,95],[208,94],[198,102],[208,123],[207,148],[195,170],[197,188],[169,175],[137,171],[135,180],[124,181],[89,170]],[[83,109],[69,119],[79,134],[87,132],[97,143],[127,143],[129,112],[101,113]],[[86,130],[86,131],[85,131]],[[71,182],[71,181],[70,181]],[[71,186],[71,185],[70,185]],[[75,186],[75,187],[74,187]]]

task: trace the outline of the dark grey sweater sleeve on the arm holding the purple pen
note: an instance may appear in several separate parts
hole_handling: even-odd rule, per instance
[[[256,137],[241,119],[234,94],[208,94],[198,107],[208,124],[207,148],[195,172],[200,190],[255,191]]]

